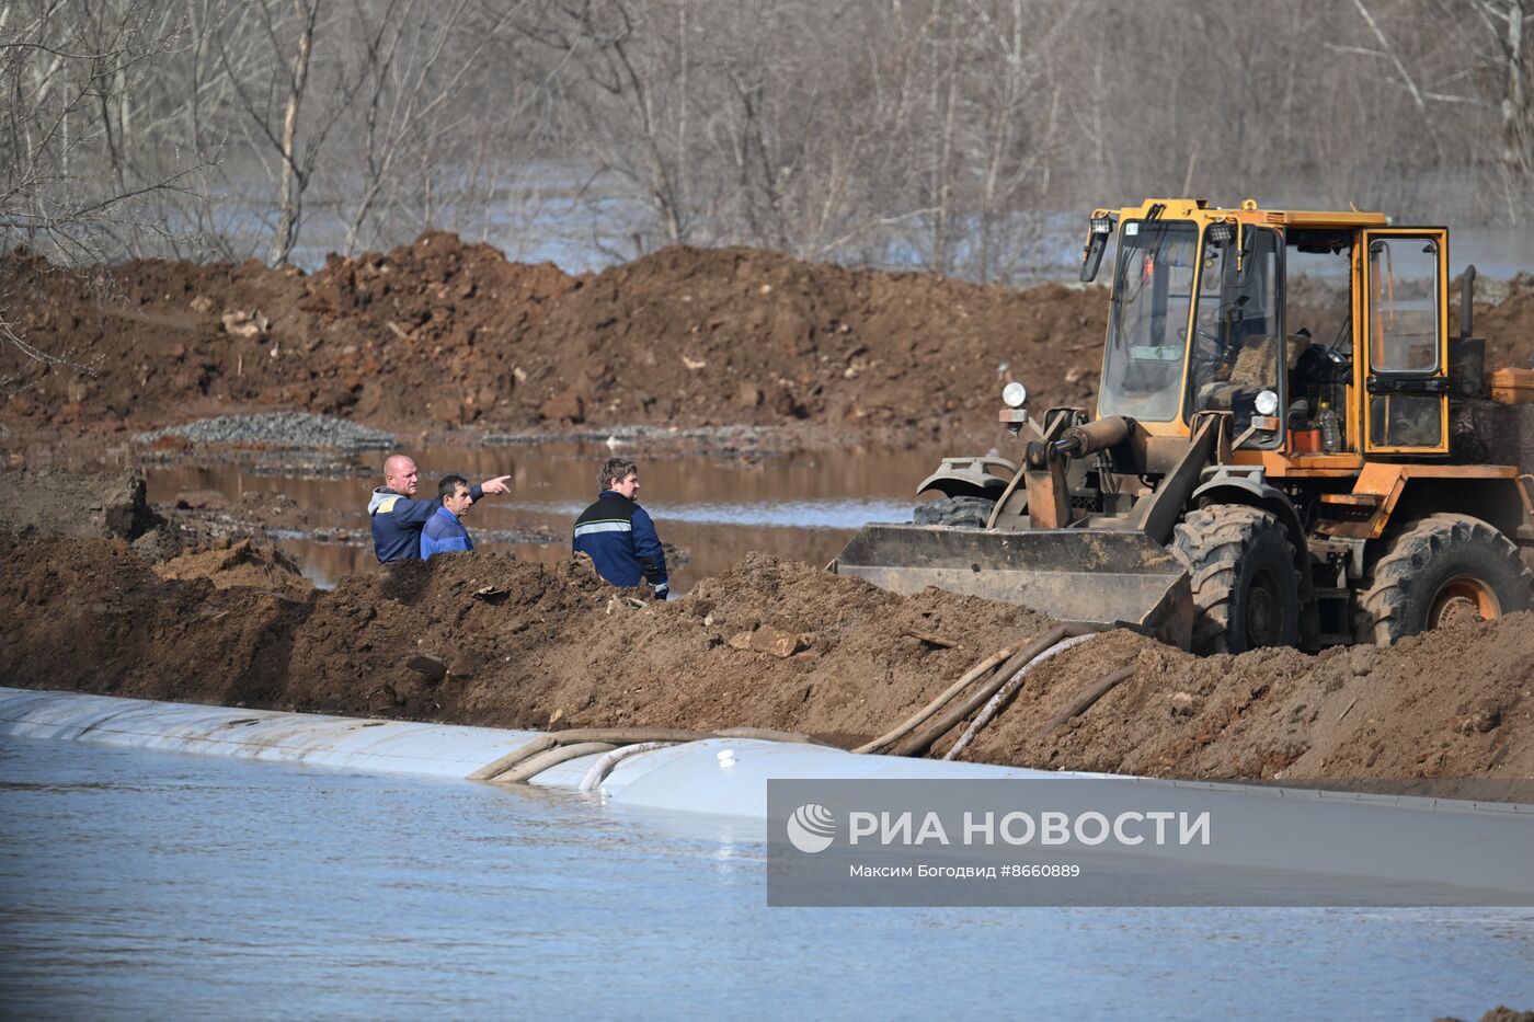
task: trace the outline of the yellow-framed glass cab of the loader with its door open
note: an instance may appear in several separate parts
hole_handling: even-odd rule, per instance
[[[1098,417],[1187,436],[1229,413],[1252,457],[1448,451],[1447,232],[1250,199],[1118,213]]]

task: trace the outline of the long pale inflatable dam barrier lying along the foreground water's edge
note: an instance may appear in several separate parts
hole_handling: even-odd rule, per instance
[[[546,740],[540,732],[360,720],[0,687],[0,735],[71,738],[376,773],[468,778]],[[603,746],[606,749],[607,746]],[[549,767],[535,787],[581,790],[603,752]],[[600,795],[618,806],[765,821],[767,783],[781,780],[1111,781],[1126,799],[1221,818],[1220,862],[1305,870],[1361,862],[1370,878],[1471,885],[1534,905],[1534,806],[1063,773],[977,763],[854,755],[815,744],[707,738],[609,760]],[[1304,833],[1305,861],[1275,833]],[[1319,867],[1318,867],[1319,869]],[[1335,872],[1335,870],[1327,870]],[[1351,872],[1351,870],[1350,870]]]

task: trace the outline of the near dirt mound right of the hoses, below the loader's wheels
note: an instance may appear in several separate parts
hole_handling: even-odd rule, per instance
[[[1534,776],[1534,614],[1379,649],[1198,658],[1129,632],[1060,657],[966,760],[1155,776]],[[1134,675],[1057,720],[1115,668]]]

